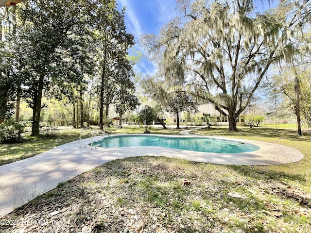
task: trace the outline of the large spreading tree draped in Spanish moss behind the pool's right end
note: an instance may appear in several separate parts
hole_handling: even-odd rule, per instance
[[[293,32],[310,20],[309,0],[284,0],[275,10],[255,12],[253,1],[177,0],[183,17],[144,44],[167,64],[168,79],[188,82],[194,95],[228,116],[229,130],[248,106],[269,67],[294,52]],[[177,61],[177,62],[176,62]],[[180,70],[190,73],[175,75]]]

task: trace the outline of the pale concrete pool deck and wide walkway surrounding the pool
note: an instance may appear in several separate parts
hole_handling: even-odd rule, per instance
[[[204,137],[189,134],[189,131],[184,131],[182,134],[183,136],[173,137]],[[158,136],[159,134],[151,135]],[[34,157],[0,166],[0,216],[4,216],[13,211],[14,208],[52,190],[60,182],[66,182],[83,172],[114,159],[151,155],[223,165],[278,165],[297,162],[304,157],[299,150],[281,145],[225,137],[214,138],[250,143],[259,146],[260,149],[234,154],[205,153],[162,147],[90,150],[90,147],[79,149],[79,141],[74,141]],[[101,139],[101,137],[95,137],[95,139]],[[90,138],[82,140],[82,146],[87,143],[90,143]]]

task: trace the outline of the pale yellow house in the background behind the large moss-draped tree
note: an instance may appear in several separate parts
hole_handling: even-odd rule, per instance
[[[223,110],[223,111],[227,112],[226,110]],[[212,125],[229,126],[228,117],[223,116],[220,112],[218,112],[214,108],[214,105],[212,105],[212,104],[204,104],[204,105],[199,106],[198,107],[198,113],[196,113],[196,114],[206,114],[206,115],[210,115],[211,117],[213,117],[214,122],[210,122],[210,123],[212,123]],[[190,125],[191,122],[187,123],[187,119],[184,119],[182,116],[183,116],[183,112],[180,113],[180,115],[179,115],[179,124],[180,125],[185,125],[185,124]],[[170,113],[165,113],[163,118],[166,119],[165,122],[167,125],[176,125],[176,123],[177,123],[176,116],[173,116]],[[202,120],[203,120],[203,124],[205,124],[205,117],[202,117]],[[237,120],[237,126],[245,126],[245,116],[244,115],[238,116],[236,120]]]

